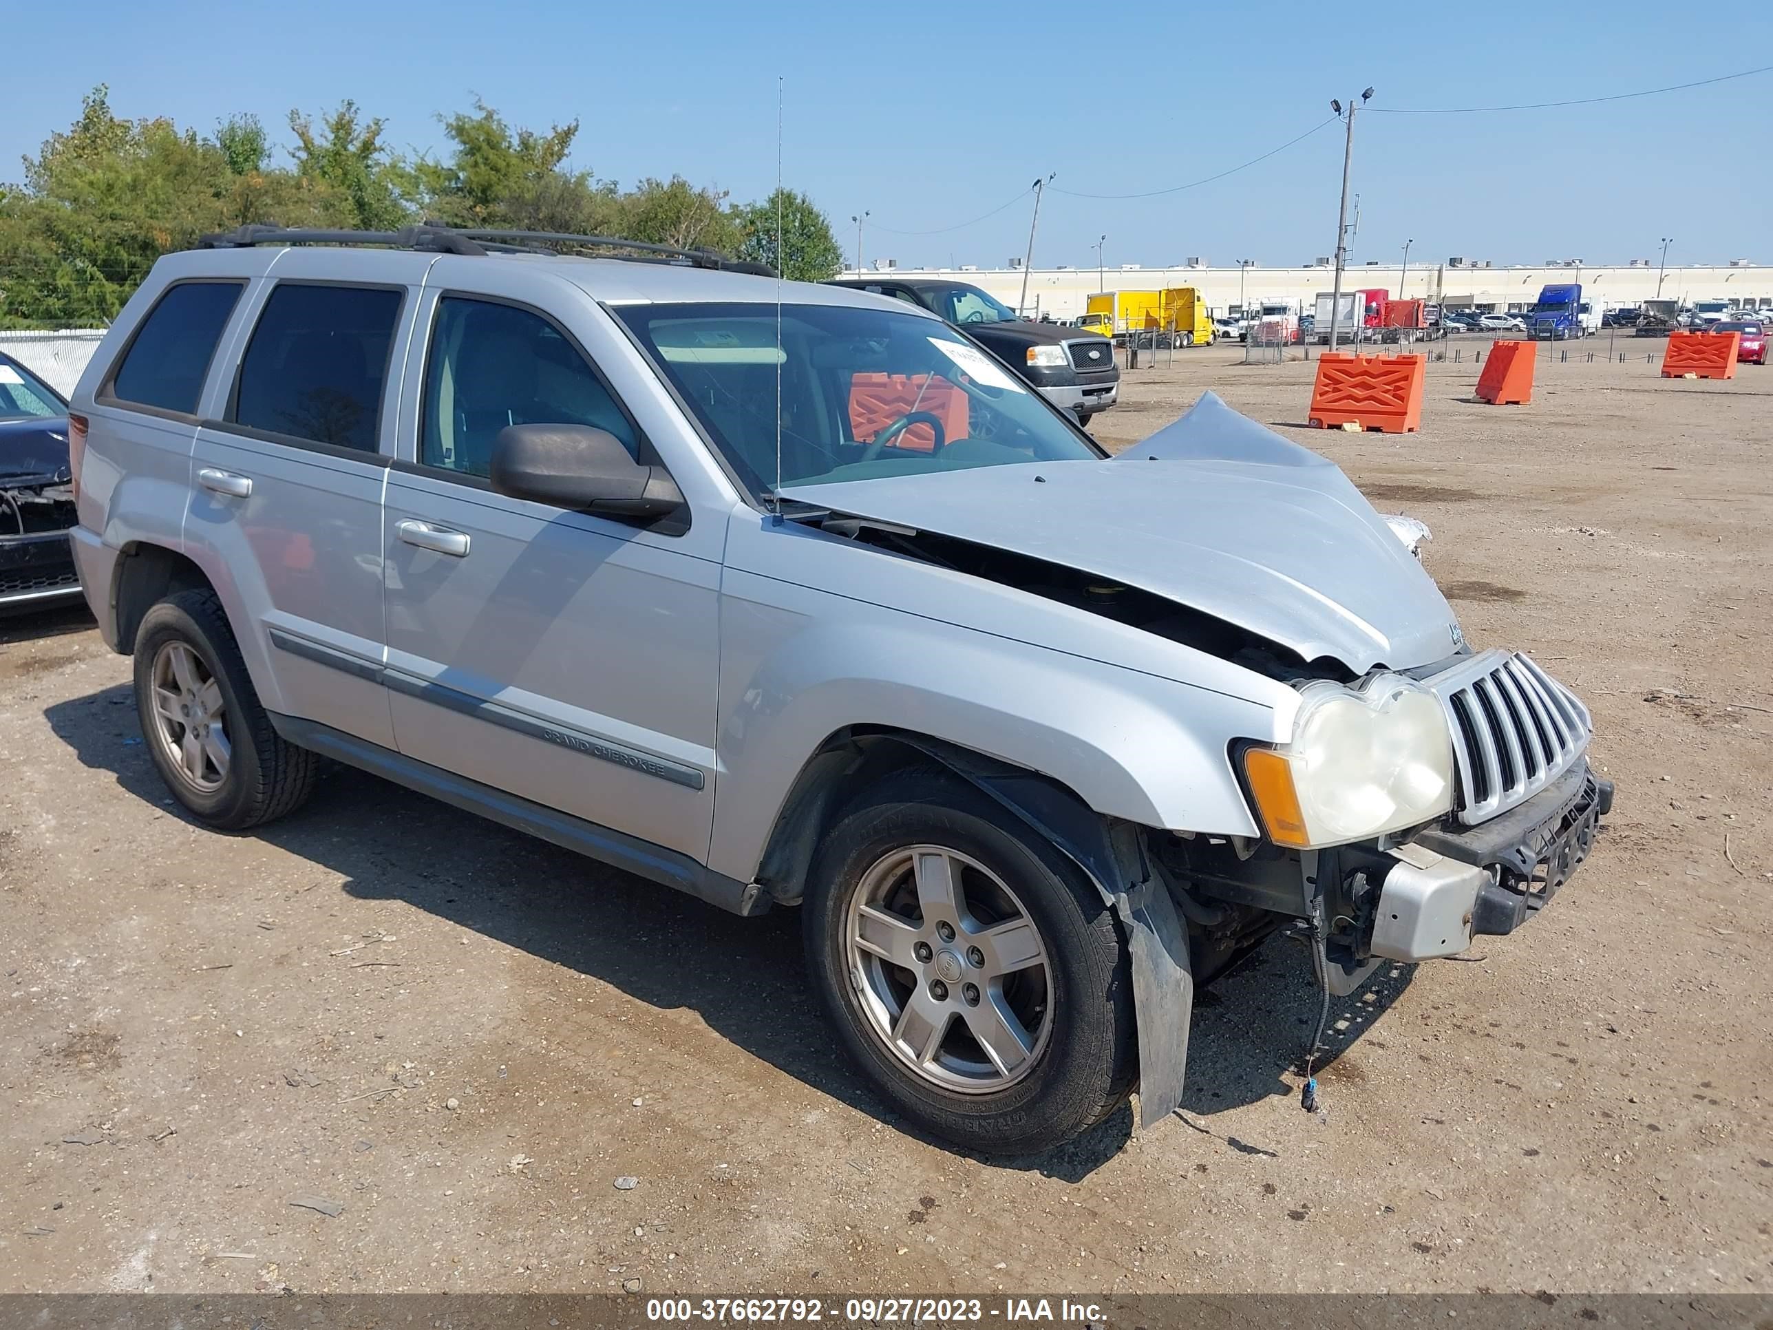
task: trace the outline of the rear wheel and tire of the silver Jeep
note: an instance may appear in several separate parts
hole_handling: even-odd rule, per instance
[[[190,709],[177,715],[181,706]],[[135,709],[160,778],[209,826],[257,826],[293,812],[314,789],[319,757],[271,727],[213,591],[181,591],[142,617]]]

